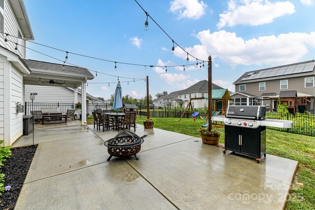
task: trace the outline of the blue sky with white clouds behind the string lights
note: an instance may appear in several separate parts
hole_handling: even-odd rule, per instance
[[[244,72],[315,59],[314,0],[138,0],[181,47],[200,60],[213,58],[213,83],[234,91]],[[144,65],[186,65],[187,54],[134,0],[25,0],[35,42],[64,51]],[[28,42],[33,50],[64,60],[65,53]],[[146,78],[149,92],[183,90],[208,78],[195,65],[165,68],[115,64],[69,54],[73,63],[119,77]],[[61,61],[27,50],[27,59]],[[196,60],[189,58],[189,63]],[[205,65],[207,66],[207,65]],[[92,72],[95,75],[95,72]],[[122,83],[123,95],[146,95],[144,81]],[[117,77],[97,74],[88,93],[108,99]]]

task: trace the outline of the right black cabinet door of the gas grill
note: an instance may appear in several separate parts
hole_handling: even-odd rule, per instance
[[[260,151],[258,151],[258,142],[260,140],[260,127],[242,128],[241,134],[242,134],[241,152],[243,154],[260,158]]]

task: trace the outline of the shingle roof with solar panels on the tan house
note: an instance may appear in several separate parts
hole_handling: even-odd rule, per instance
[[[271,67],[271,68],[264,68],[264,69],[254,70],[254,71],[247,71],[240,78],[238,78],[233,84],[236,85],[236,84],[252,83],[252,82],[257,82],[257,81],[276,80],[276,79],[291,78],[291,77],[301,77],[301,76],[305,76],[305,75],[314,75],[315,66],[313,67],[313,71],[310,71],[310,72],[302,72],[302,73],[296,73],[296,74],[287,74],[287,75],[264,77],[264,78],[241,81],[243,78],[249,77],[249,75],[252,74],[253,72],[255,72],[255,74],[257,75],[260,71],[266,71],[266,70],[270,71],[271,69],[275,69],[275,68],[286,69],[289,66],[295,66],[298,64],[312,63],[312,62],[315,62],[315,60],[308,60],[308,61],[299,62],[299,63],[292,63],[292,64],[288,64],[288,65],[276,66],[276,67]]]

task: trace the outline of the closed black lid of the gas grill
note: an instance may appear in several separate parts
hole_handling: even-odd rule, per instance
[[[225,117],[263,120],[266,116],[265,106],[227,106]]]

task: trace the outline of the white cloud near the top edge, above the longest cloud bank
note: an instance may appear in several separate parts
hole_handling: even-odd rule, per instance
[[[217,27],[221,29],[224,26],[232,27],[239,24],[259,26],[272,23],[275,18],[294,12],[294,5],[289,1],[271,3],[268,0],[230,0],[228,9],[220,14]]]

